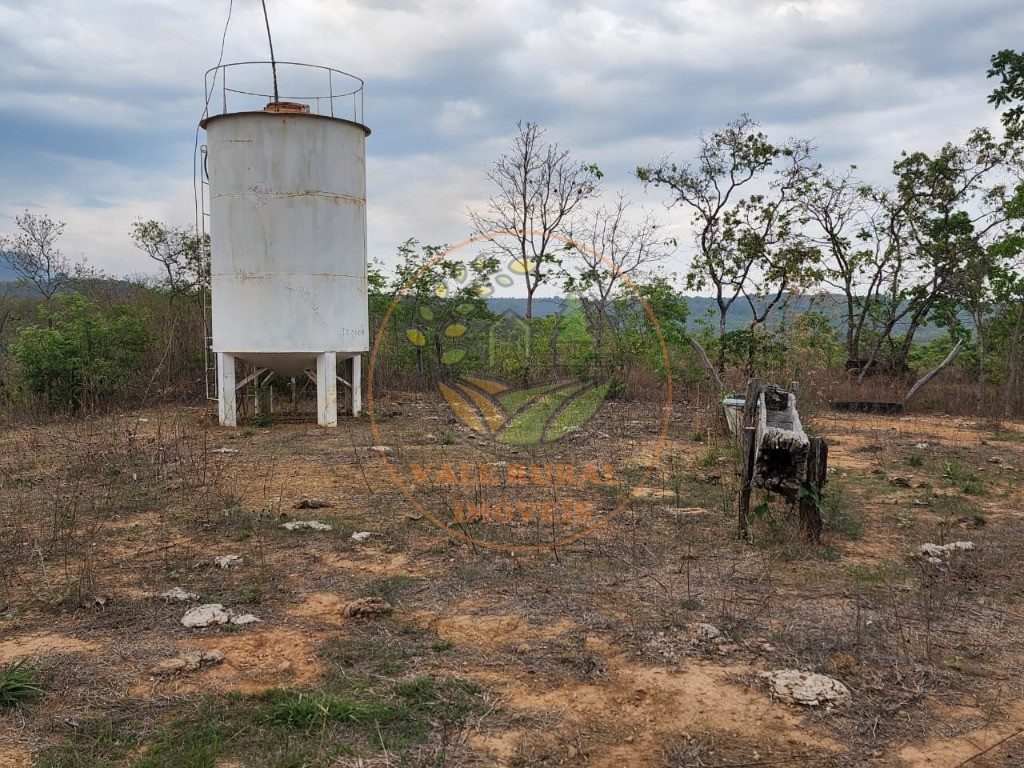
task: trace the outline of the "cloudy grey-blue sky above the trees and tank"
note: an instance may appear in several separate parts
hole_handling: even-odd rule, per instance
[[[0,232],[68,222],[63,251],[153,271],[137,217],[195,220],[203,74],[230,0],[0,0]],[[685,161],[741,113],[772,138],[884,182],[901,150],[997,127],[989,56],[1024,41],[1020,0],[267,0],[279,59],[366,81],[370,252],[456,243],[517,120],[644,193],[638,165]],[[233,0],[224,61],[267,58],[257,0]],[[202,140],[202,134],[201,134]],[[677,212],[662,211],[681,226]]]

